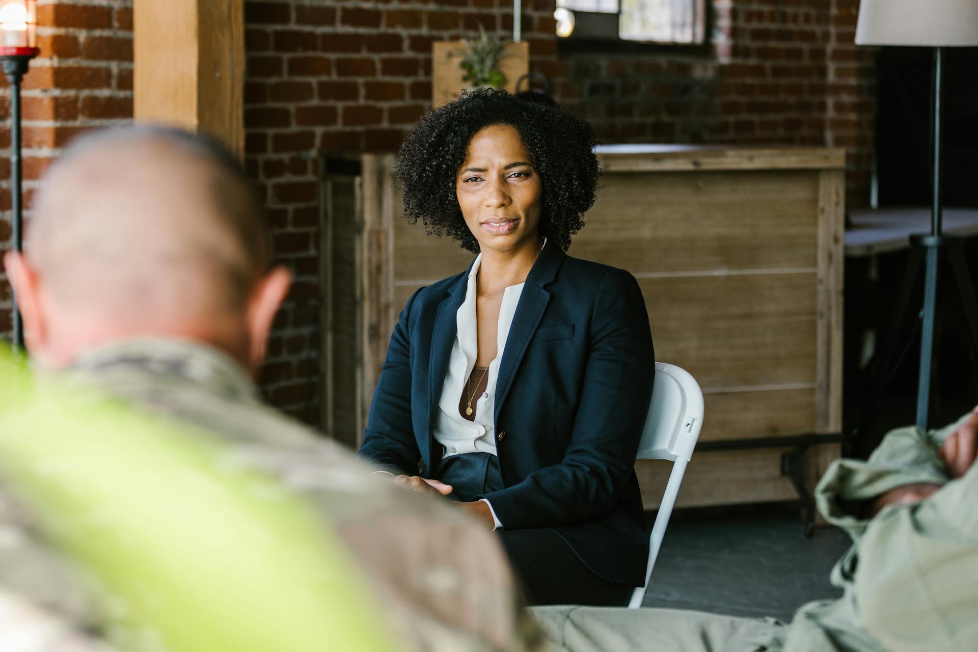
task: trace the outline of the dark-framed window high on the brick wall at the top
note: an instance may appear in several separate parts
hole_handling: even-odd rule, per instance
[[[704,45],[706,0],[556,0],[556,33],[568,41]]]

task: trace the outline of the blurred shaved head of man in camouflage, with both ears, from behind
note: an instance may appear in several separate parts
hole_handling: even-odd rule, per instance
[[[234,157],[158,127],[79,138],[45,176],[24,253],[7,254],[27,348],[66,365],[132,337],[215,345],[248,369],[289,289]]]

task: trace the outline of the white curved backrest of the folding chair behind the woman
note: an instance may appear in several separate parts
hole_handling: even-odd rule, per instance
[[[655,363],[652,400],[639,443],[639,459],[687,461],[703,425],[703,392],[689,371]]]

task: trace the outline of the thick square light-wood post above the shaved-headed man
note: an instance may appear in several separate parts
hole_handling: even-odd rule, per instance
[[[136,121],[244,155],[244,0],[135,0],[133,11]]]

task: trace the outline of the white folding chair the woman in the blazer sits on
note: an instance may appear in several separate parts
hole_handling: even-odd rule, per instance
[[[671,459],[673,470],[655,516],[652,534],[648,538],[648,565],[645,567],[645,586],[632,592],[629,609],[638,609],[645,598],[652,567],[666,534],[676,495],[683,483],[686,465],[696,447],[699,428],[703,424],[703,392],[696,379],[686,369],[675,365],[655,363],[655,382],[652,401],[645,419],[645,430],[639,443],[639,459]]]

